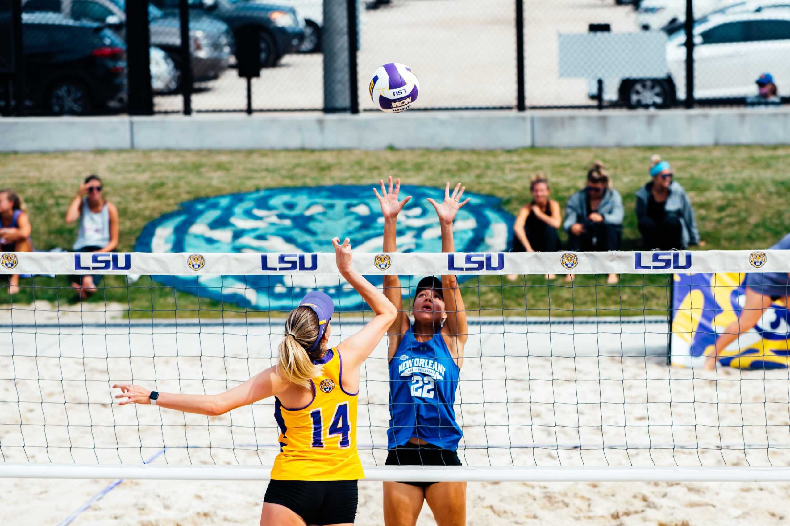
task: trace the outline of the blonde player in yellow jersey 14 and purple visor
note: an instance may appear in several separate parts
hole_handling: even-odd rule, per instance
[[[337,270],[373,310],[359,333],[328,348],[334,306],[323,292],[310,292],[288,314],[277,365],[225,393],[156,393],[139,385],[113,385],[121,404],[222,415],[231,409],[275,396],[280,454],[272,468],[261,511],[261,526],[353,524],[357,479],[363,478],[356,451],[359,367],[382,340],[397,316],[391,302],[352,269],[346,239],[332,240]]]

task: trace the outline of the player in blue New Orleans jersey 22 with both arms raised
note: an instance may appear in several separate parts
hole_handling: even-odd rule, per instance
[[[401,181],[381,182],[374,190],[384,216],[384,251],[395,252],[397,214],[411,197],[398,201]],[[442,252],[454,252],[453,219],[468,199],[465,188],[450,183],[442,203],[428,199],[442,229]],[[464,300],[456,276],[419,281],[411,313],[403,311],[401,281],[384,277],[385,294],[398,317],[387,331],[389,340],[389,454],[387,465],[460,466],[456,453],[461,427],[453,404],[468,337]],[[411,316],[409,315],[411,314]],[[411,317],[414,318],[412,324]],[[427,502],[438,526],[466,524],[466,483],[384,483],[384,524],[414,526]]]

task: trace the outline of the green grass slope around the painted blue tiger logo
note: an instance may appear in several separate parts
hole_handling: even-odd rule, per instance
[[[524,149],[516,151],[396,151],[383,152],[73,152],[0,154],[0,188],[21,193],[33,224],[38,250],[70,249],[76,226],[63,216],[81,179],[101,175],[106,197],[119,209],[119,251],[132,250],[141,228],[150,220],[198,197],[246,192],[279,186],[370,184],[392,175],[404,184],[433,185],[463,182],[469,190],[502,197],[511,213],[529,201],[529,178],[543,171],[552,197],[564,205],[585,184],[592,160],[606,163],[614,186],[623,194],[626,220],[623,250],[638,248],[634,191],[648,181],[649,156],[660,153],[672,163],[675,180],[690,195],[705,249],[765,248],[790,228],[790,147]],[[353,241],[353,235],[350,235]],[[327,247],[331,249],[329,240]],[[664,314],[665,276],[623,276],[620,286],[607,286],[602,276],[581,276],[574,286],[561,280],[549,286],[541,276],[503,281],[486,276],[465,282],[468,309],[483,315],[633,315]],[[477,285],[481,286],[478,287]],[[504,284],[504,286],[502,286]],[[523,285],[528,285],[524,287]],[[76,309],[76,295],[66,279],[22,280],[17,304],[58,301],[59,308]],[[646,286],[643,286],[646,285]],[[239,307],[174,292],[143,277],[126,287],[121,276],[110,276],[90,302],[120,302],[132,317],[266,316],[244,313]],[[0,304],[9,296],[0,291]]]

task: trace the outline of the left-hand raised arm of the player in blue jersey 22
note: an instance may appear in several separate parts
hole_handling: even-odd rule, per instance
[[[401,179],[395,179],[395,190],[393,191],[393,178],[388,178],[389,191],[384,186],[384,181],[379,180],[382,185],[382,194],[378,194],[375,188],[373,192],[382,205],[382,216],[384,216],[384,251],[397,251],[397,215],[401,212],[404,205],[412,196],[406,197],[403,201],[398,201],[398,193],[401,191]],[[391,360],[397,352],[398,346],[404,333],[408,330],[408,314],[403,312],[403,295],[401,295],[401,278],[395,276],[384,276],[384,295],[389,302],[395,306],[398,314],[392,324],[387,328],[387,359]]]

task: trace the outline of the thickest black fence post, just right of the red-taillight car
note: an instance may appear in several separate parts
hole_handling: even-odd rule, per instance
[[[149,0],[126,2],[126,78],[129,115],[153,115]]]

